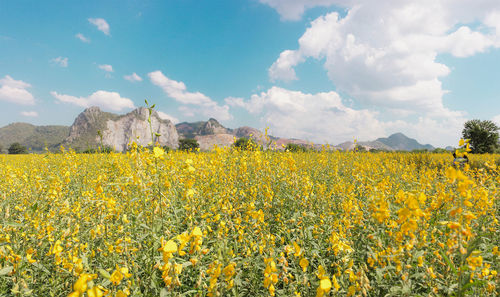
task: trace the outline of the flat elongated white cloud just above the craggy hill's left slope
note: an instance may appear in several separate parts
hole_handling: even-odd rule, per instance
[[[121,111],[123,109],[134,108],[134,103],[129,98],[121,97],[117,92],[97,91],[88,97],[75,97],[71,95],[50,92],[54,98],[60,102],[73,104],[80,107],[99,106],[105,110]]]

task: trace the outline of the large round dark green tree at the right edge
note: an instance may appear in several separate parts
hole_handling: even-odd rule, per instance
[[[471,153],[493,153],[498,147],[498,130],[492,121],[470,120],[465,122],[462,137],[469,139]]]

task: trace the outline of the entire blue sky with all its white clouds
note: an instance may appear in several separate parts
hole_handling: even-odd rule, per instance
[[[500,4],[480,2],[3,0],[0,126],[147,98],[174,121],[454,145],[500,121]]]

